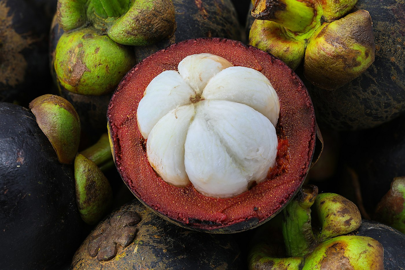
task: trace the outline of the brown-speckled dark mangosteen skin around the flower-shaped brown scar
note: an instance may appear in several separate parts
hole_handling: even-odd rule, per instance
[[[113,234],[128,236],[125,230],[115,230],[117,226],[117,213],[122,221],[125,214],[134,212],[139,215],[139,222],[132,222],[126,226],[127,231],[136,228],[133,240],[123,247],[116,243],[117,253],[111,259],[99,261],[98,254],[92,257],[89,253],[89,242],[95,240],[101,226],[104,228],[102,243],[109,243]],[[115,217],[114,217],[115,216]],[[109,223],[109,224],[108,224]],[[135,224],[133,224],[135,223]],[[114,224],[110,226],[110,224]],[[115,227],[114,227],[115,226]],[[100,237],[100,236],[99,236]],[[102,236],[101,236],[102,237]],[[132,238],[131,238],[132,239]],[[96,239],[97,241],[97,239]],[[104,249],[100,246],[98,253]],[[148,210],[138,200],[125,204],[111,213],[94,229],[75,253],[72,260],[72,270],[119,270],[119,269],[244,269],[241,262],[239,246],[232,235],[205,234],[190,231],[160,219],[151,210]]]

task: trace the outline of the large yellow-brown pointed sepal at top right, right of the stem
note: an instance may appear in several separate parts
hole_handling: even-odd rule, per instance
[[[374,62],[372,25],[365,10],[323,24],[305,50],[305,77],[327,90],[335,90],[358,77]]]

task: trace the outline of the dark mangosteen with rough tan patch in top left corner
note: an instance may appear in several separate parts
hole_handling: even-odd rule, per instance
[[[28,102],[51,87],[48,38],[56,0],[0,1],[0,101]]]

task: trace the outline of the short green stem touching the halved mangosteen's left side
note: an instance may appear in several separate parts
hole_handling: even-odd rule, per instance
[[[96,163],[101,171],[105,171],[114,165],[113,154],[111,153],[110,141],[107,133],[101,135],[96,144],[83,150],[80,154]]]

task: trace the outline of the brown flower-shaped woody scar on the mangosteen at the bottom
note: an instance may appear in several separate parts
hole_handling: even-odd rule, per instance
[[[136,225],[141,220],[134,211],[116,212],[108,222],[101,223],[90,236],[87,252],[98,261],[109,261],[117,254],[117,245],[125,248],[136,236]]]

